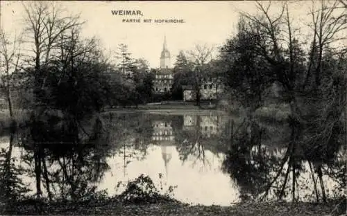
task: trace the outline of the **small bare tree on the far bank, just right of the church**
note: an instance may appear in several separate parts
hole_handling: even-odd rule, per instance
[[[200,105],[201,85],[206,75],[207,64],[212,60],[213,47],[207,44],[196,45],[194,49],[187,51],[189,66],[194,74],[194,90],[196,91],[196,105]]]

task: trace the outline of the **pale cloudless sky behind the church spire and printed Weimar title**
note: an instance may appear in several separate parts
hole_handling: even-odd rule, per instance
[[[19,1],[1,1],[1,28],[19,32],[24,10]],[[151,67],[160,65],[164,36],[174,64],[180,50],[187,51],[196,44],[221,46],[235,35],[239,12],[255,12],[254,1],[61,1],[71,14],[80,13],[85,20],[83,36],[96,36],[103,47],[117,51],[118,44],[128,45],[133,57],[142,57]],[[276,11],[275,1],[274,11]],[[297,17],[307,16],[310,1],[298,3]],[[279,8],[279,7],[277,7]],[[141,15],[112,15],[112,10],[140,10]],[[123,19],[141,19],[139,23]],[[144,19],[152,19],[144,23]],[[154,23],[154,19],[183,19],[184,23]]]

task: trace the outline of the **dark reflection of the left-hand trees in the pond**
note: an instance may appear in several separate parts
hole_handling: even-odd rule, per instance
[[[74,118],[44,116],[31,119],[22,139],[24,159],[34,165],[37,196],[43,186],[49,199],[80,199],[95,190],[90,183],[108,170],[109,134],[103,120],[97,116],[84,127]]]

